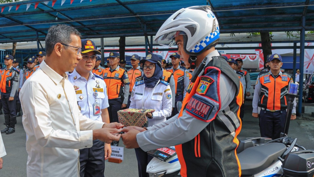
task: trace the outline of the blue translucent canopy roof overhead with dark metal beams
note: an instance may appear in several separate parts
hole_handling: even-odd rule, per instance
[[[152,36],[178,9],[206,4],[212,6],[221,33],[300,31],[302,16],[311,31],[313,1],[24,0],[0,4],[0,43],[43,41],[57,23],[75,27],[84,38]]]

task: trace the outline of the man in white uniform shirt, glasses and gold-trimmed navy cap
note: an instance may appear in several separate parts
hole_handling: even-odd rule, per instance
[[[107,108],[108,96],[106,83],[102,77],[92,73],[95,67],[97,55],[101,54],[95,50],[95,43],[88,39],[82,39],[82,59],[78,66],[69,75],[68,80],[73,84],[78,107],[81,113],[92,120],[105,123],[109,122]],[[111,155],[110,144],[100,140],[94,140],[90,148],[80,149],[80,176],[81,177],[103,177],[105,160]]]

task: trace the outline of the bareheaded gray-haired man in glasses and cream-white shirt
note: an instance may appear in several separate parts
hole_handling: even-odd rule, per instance
[[[46,59],[20,91],[23,126],[28,136],[27,176],[79,176],[79,150],[93,140],[119,140],[122,124],[105,124],[81,114],[67,71],[82,60],[80,33],[73,27],[51,26]]]

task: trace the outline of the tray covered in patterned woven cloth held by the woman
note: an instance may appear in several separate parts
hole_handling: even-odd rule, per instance
[[[147,126],[146,113],[154,112],[154,109],[123,109],[118,111],[119,123],[122,123],[124,127],[127,126],[137,126],[144,127]]]

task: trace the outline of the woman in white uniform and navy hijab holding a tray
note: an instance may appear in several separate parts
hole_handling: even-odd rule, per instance
[[[143,63],[144,79],[135,83],[131,94],[129,108],[154,109],[153,113],[147,113],[148,126],[166,121],[171,115],[172,95],[169,83],[162,80],[161,61],[156,54],[149,53]],[[141,148],[135,149],[138,160],[138,176],[148,177],[147,164],[153,158]]]

